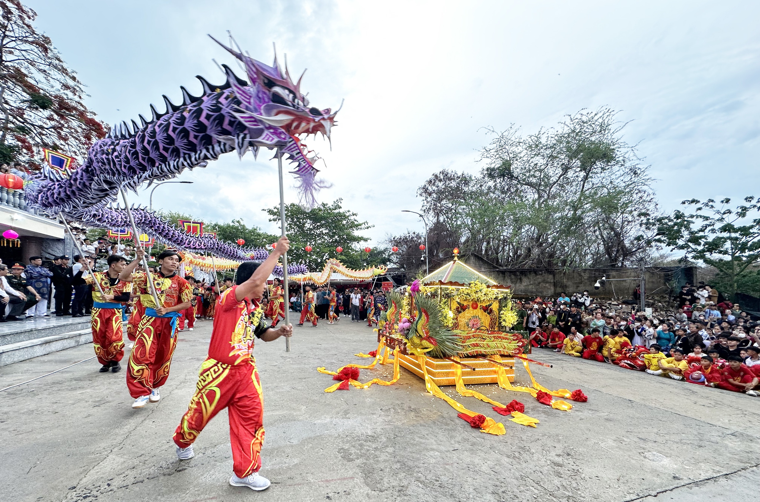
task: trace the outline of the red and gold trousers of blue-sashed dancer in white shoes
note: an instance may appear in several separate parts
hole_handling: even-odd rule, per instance
[[[140,321],[127,367],[127,388],[132,397],[147,396],[151,389],[166,383],[177,346],[171,321],[170,317],[149,315]]]

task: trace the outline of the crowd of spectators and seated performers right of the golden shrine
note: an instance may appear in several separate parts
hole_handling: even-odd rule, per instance
[[[686,283],[674,300],[648,314],[563,292],[518,302],[515,328],[536,348],[760,396],[760,323],[709,284]]]

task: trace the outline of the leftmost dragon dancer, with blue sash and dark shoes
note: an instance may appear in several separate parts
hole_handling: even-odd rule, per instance
[[[97,281],[103,289],[103,295],[97,288],[93,289],[93,309],[90,312],[93,347],[98,362],[103,365],[100,373],[106,373],[109,369],[116,373],[122,369],[119,365],[124,357],[122,313],[125,303],[129,301],[132,285],[119,279],[127,263],[125,257],[112,254],[106,263],[108,270],[92,275],[87,273],[84,283],[92,286]]]

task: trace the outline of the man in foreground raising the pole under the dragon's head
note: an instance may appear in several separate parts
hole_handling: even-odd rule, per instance
[[[269,274],[289,244],[287,237],[281,237],[262,264],[253,261],[240,264],[236,286],[220,296],[208,358],[198,371],[195,394],[173,437],[179,459],[192,459],[195,455],[192,444],[198,434],[214,415],[226,408],[233,450],[230,485],[256,491],[269,488],[270,481],[258,475],[264,442],[264,401],[253,346],[256,338],[271,342],[293,334],[292,324],[283,324],[276,330],[267,327],[264,308],[258,302]]]

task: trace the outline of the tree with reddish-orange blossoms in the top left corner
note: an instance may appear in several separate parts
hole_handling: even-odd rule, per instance
[[[0,0],[0,163],[39,169],[43,147],[80,158],[106,129],[84,106],[84,86],[52,40],[33,27],[36,12]]]

